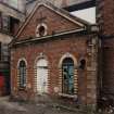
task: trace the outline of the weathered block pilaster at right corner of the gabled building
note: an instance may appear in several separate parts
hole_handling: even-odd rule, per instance
[[[98,75],[98,38],[90,39],[87,62],[87,105],[97,106],[97,75]]]

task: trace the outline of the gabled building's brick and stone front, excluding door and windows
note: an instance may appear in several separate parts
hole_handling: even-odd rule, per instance
[[[61,10],[59,12],[63,13]],[[38,39],[35,30],[37,25],[42,23],[36,22],[42,17],[40,15],[46,17],[43,23],[48,25],[48,35],[50,36]],[[45,58],[48,61],[48,93],[55,97],[56,94],[58,97],[63,96],[62,62],[65,58],[71,58],[74,61],[74,96],[65,94],[65,97],[75,97],[75,100],[77,97],[77,103],[96,106],[98,37],[96,33],[89,31],[88,34],[87,23],[63,15],[41,5],[31,18],[27,20],[27,24],[24,24],[20,29],[17,39],[11,47],[12,94],[25,92],[27,97],[33,97],[38,92],[36,64],[38,59]],[[69,33],[73,29],[76,31]],[[54,35],[52,34],[53,30]],[[25,40],[26,38],[27,40]],[[26,60],[27,64],[26,88],[23,90],[20,90],[18,87],[18,61],[21,59]],[[81,60],[85,61],[84,68],[80,67]]]

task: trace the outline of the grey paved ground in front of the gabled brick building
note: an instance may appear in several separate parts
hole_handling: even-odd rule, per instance
[[[45,101],[45,102],[43,102]],[[0,98],[0,114],[94,114],[90,112],[78,111],[61,103],[54,103],[50,99],[38,97],[37,102],[14,102],[9,97]],[[96,114],[114,114],[112,110],[104,113]]]

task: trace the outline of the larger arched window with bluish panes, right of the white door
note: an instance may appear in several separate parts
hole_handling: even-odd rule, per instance
[[[74,61],[71,58],[62,63],[62,92],[74,94]]]

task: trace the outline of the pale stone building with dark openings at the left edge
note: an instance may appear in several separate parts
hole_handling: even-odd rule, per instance
[[[25,14],[18,10],[17,2],[0,0],[0,76],[4,78],[4,86],[0,87],[0,96],[10,92],[10,51],[8,45],[24,20]]]

